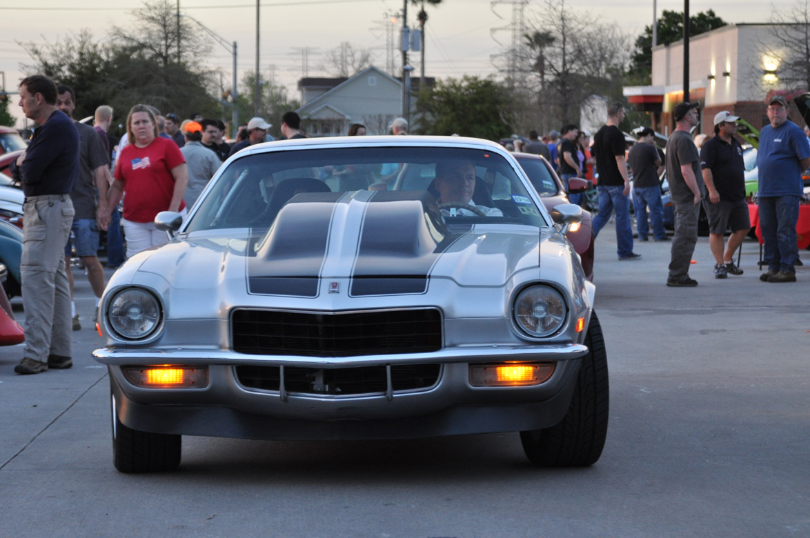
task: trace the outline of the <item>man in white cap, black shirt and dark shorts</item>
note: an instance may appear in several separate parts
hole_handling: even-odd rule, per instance
[[[701,147],[701,169],[708,196],[703,208],[709,218],[709,247],[714,255],[714,278],[742,275],[734,263],[735,250],[751,229],[748,204],[745,203],[745,164],[743,147],[734,138],[739,117],[727,110],[714,116],[714,136]],[[731,228],[725,254],[723,236]]]

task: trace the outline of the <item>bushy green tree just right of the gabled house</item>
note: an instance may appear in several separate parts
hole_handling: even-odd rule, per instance
[[[505,90],[492,77],[465,75],[424,89],[416,100],[420,134],[461,134],[497,140],[509,135],[501,119]]]

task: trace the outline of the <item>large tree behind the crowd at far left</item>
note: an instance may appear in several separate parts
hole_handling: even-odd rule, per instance
[[[213,71],[202,67],[210,44],[198,34],[181,19],[178,62],[177,15],[166,0],[158,0],[135,10],[126,29],[113,28],[107,41],[96,41],[85,29],[53,44],[22,44],[34,61],[23,70],[73,88],[77,119],[110,105],[123,122],[138,103],[181,117],[192,112],[220,117]]]

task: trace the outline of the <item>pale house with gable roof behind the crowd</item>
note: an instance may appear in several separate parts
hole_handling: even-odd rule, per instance
[[[411,118],[419,87],[420,79],[411,79]],[[362,123],[368,134],[386,134],[402,114],[402,82],[375,66],[348,79],[301,79],[298,89],[303,105],[296,112],[309,136],[343,136],[352,123]]]

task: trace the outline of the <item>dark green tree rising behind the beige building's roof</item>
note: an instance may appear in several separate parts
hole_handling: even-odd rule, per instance
[[[714,14],[713,10],[701,11],[689,15],[689,35],[709,32],[715,28],[726,26],[727,22]],[[658,45],[669,45],[684,38],[684,12],[664,10],[656,24],[658,28]],[[653,65],[653,27],[651,24],[644,27],[644,32],[636,39],[636,48],[630,62],[629,73],[635,75],[639,84],[650,83]]]

